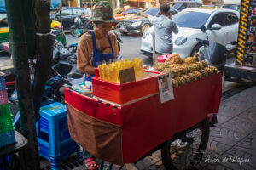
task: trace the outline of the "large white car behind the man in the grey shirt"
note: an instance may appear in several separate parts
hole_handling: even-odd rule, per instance
[[[201,44],[195,38],[207,40],[208,35],[209,41],[223,45],[237,41],[239,13],[235,10],[187,8],[173,16],[172,20],[179,30],[177,34],[172,32],[172,54],[179,54],[183,58],[192,56],[201,48]],[[202,25],[206,26],[207,35],[201,31]],[[154,32],[153,26],[143,34],[141,42],[143,53],[153,52],[152,32]]]

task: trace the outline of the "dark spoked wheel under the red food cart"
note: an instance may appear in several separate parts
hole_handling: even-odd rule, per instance
[[[162,144],[161,156],[166,169],[191,169],[202,160],[209,139],[208,118],[194,127],[176,133]]]

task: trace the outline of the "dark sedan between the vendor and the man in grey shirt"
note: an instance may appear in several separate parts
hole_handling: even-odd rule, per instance
[[[170,12],[172,15],[177,14],[177,10],[170,8]],[[148,8],[144,14],[148,14],[151,16],[158,16],[160,15],[159,8]],[[120,20],[119,24],[117,25],[117,29],[122,33],[135,33],[143,35],[143,33],[152,26],[149,20],[143,17],[140,13],[129,17],[125,20]]]

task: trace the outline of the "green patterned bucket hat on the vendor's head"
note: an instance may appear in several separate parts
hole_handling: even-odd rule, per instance
[[[91,20],[118,23],[117,20],[114,20],[112,8],[107,1],[96,3]]]

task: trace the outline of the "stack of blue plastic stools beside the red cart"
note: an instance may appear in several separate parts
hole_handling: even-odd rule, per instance
[[[61,169],[61,160],[78,152],[79,146],[70,138],[66,105],[52,103],[40,108],[37,122],[39,155],[50,161],[50,168]]]

